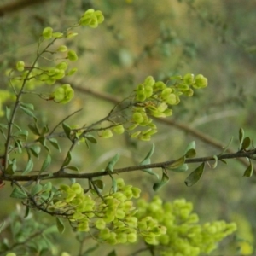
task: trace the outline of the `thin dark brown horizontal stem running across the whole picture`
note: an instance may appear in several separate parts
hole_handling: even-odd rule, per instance
[[[236,159],[236,158],[251,158],[253,159],[253,156],[256,154],[256,149],[248,150],[248,151],[238,151],[233,154],[221,154],[217,155],[218,160],[227,160],[227,159]],[[193,159],[186,159],[184,163],[190,164],[190,163],[201,163],[201,162],[208,162],[214,160],[215,158],[213,156],[206,156],[206,157],[198,157]],[[124,172],[134,172],[134,171],[143,171],[144,169],[149,168],[166,168],[168,166],[171,166],[173,163],[175,163],[177,160],[169,160],[165,162],[160,163],[154,163],[150,165],[143,165],[143,166],[128,166],[124,168],[118,168],[114,169],[113,172],[111,172],[111,175],[113,174],[119,174]],[[58,178],[84,178],[84,179],[91,179],[94,177],[102,177],[102,176],[108,176],[109,172],[89,172],[89,173],[67,173],[67,172],[54,172],[52,174],[44,174],[44,175],[31,175],[31,176],[24,176],[24,175],[5,175],[1,177],[1,180],[3,181],[37,181],[40,180],[46,180],[46,179],[58,179]]]

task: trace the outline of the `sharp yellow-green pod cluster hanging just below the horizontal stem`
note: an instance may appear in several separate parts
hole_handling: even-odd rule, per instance
[[[137,209],[131,200],[138,198],[141,190],[125,185],[121,178],[116,182],[116,192],[96,199],[84,195],[79,183],[61,185],[49,210],[68,218],[79,231],[95,230],[93,234],[99,241],[112,245],[135,242],[137,236],[143,236],[150,243],[155,236],[165,234],[166,228],[154,218],[137,219]]]

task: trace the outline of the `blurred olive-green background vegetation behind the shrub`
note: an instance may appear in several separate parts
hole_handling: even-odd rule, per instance
[[[1,5],[7,3],[9,1],[3,0]],[[122,159],[119,166],[131,166],[143,159],[143,152],[148,151],[152,143],[156,147],[153,160],[160,162],[176,159],[193,140],[200,156],[219,154],[222,150],[217,144],[227,145],[230,137],[235,137],[230,148],[236,151],[240,127],[247,136],[254,137],[256,18],[253,1],[62,0],[4,13],[0,17],[0,89],[7,86],[6,69],[14,67],[19,60],[32,61],[36,42],[45,26],[61,30],[90,8],[100,9],[105,22],[96,30],[79,28],[79,38],[68,41],[68,46],[79,54],[76,62],[79,72],[68,81],[75,90],[75,100],[53,111],[54,103],[32,99],[45,124],[55,126],[67,113],[79,108],[83,108],[79,119],[74,115],[70,122],[78,127],[95,122],[148,75],[165,80],[180,73],[203,73],[209,85],[207,90],[196,90],[195,96],[174,107],[174,114],[169,118],[172,123],[160,122],[159,133],[151,142],[113,137],[111,142],[99,141],[90,150],[80,145],[74,160],[81,170],[100,171],[116,153]],[[3,143],[0,147],[3,154]],[[236,235],[226,239],[212,255],[253,255],[255,177],[242,177],[246,166],[241,162],[227,162],[228,165],[219,163],[214,170],[207,168],[201,181],[191,188],[183,183],[188,173],[172,172],[170,182],[157,194],[166,201],[185,198],[193,202],[202,222],[216,219],[236,222]],[[190,166],[193,169],[193,165]],[[140,187],[144,198],[156,194],[152,189],[154,177],[141,172],[122,177],[127,183]],[[1,219],[15,211],[16,201],[9,199],[6,189],[9,186],[7,183],[0,190]],[[48,218],[40,216],[43,215],[37,218],[42,222]],[[72,232],[67,230],[55,242],[56,250],[78,255],[79,241],[68,231]],[[91,245],[91,241],[84,243],[84,247]],[[112,247],[106,246],[102,252],[111,250]],[[118,255],[129,255],[135,248],[118,247],[117,250]]]

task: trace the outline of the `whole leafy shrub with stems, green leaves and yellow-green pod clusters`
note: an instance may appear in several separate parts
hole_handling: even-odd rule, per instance
[[[171,204],[163,203],[160,198],[154,197],[151,202],[138,201],[136,204],[132,199],[140,196],[141,189],[125,185],[123,179],[115,179],[114,175],[143,170],[158,178],[152,169],[160,167],[162,177],[158,178],[153,186],[157,191],[169,182],[168,171],[186,172],[190,163],[199,162],[200,166],[196,167],[185,180],[187,186],[192,186],[201,178],[205,163],[208,161],[213,160],[212,168],[215,168],[218,161],[243,157],[249,160],[244,176],[251,177],[255,149],[251,138],[244,137],[242,129],[239,131],[239,148],[234,154],[225,154],[230,146],[230,140],[222,153],[195,158],[195,143],[189,143],[184,154],[177,160],[151,164],[153,146],[137,166],[116,169],[115,165],[119,161],[119,154],[116,154],[102,172],[73,173],[73,171],[79,172],[79,167],[73,160],[74,148],[79,143],[86,143],[89,148],[90,143],[96,144],[101,138],[113,137],[113,133],[118,135],[125,133],[132,139],[150,141],[158,131],[155,120],[172,115],[173,107],[179,104],[181,99],[183,101],[188,99],[183,96],[194,96],[194,90],[207,87],[207,78],[202,74],[194,76],[192,73],[185,73],[183,76],[169,76],[163,82],[148,76],[143,83],[137,84],[130,96],[117,103],[106,117],[79,128],[74,128],[75,125],[67,125],[67,119],[79,111],[62,119],[53,128],[42,125],[40,115],[32,102],[27,101],[25,97],[38,96],[40,100],[62,104],[70,102],[74,96],[73,86],[62,79],[77,72],[76,67],[69,67],[68,61],[78,61],[79,54],[62,44],[62,40],[76,37],[78,33],[73,32],[73,29],[78,26],[96,28],[103,20],[101,11],[89,9],[78,23],[64,32],[54,32],[52,27],[45,27],[32,65],[26,64],[26,61],[17,61],[15,68],[7,72],[10,90],[3,90],[0,100],[2,105],[12,103],[11,108],[6,107],[1,110],[2,116],[6,119],[6,122],[0,124],[0,131],[5,140],[4,154],[1,155],[1,186],[4,186],[3,181],[11,182],[15,186],[10,196],[20,199],[26,206],[25,224],[28,224],[26,220],[32,220],[29,218],[30,210],[37,209],[56,218],[56,227],[60,233],[65,230],[63,219],[67,219],[73,230],[88,232],[96,241],[110,245],[134,243],[140,236],[152,255],[154,252],[159,252],[160,255],[211,253],[218,241],[236,230],[235,224],[227,224],[224,221],[197,224],[197,215],[191,213],[192,204],[184,200],[176,200]],[[61,45],[55,47],[55,43],[59,41]],[[52,65],[45,65],[47,62]],[[54,85],[60,82],[61,85],[55,88]],[[44,92],[41,92],[42,88]],[[16,121],[18,112],[28,118],[29,130],[26,130],[26,124],[20,125]],[[60,128],[62,131],[56,132]],[[61,151],[60,137],[66,138],[71,145],[64,152],[61,166],[55,169],[53,168],[55,160],[50,147]],[[39,157],[44,158],[40,165],[37,161]],[[67,172],[68,170],[72,173]],[[104,176],[112,180],[107,192]],[[71,184],[57,186],[47,181],[55,178],[70,178]],[[77,183],[76,178],[87,179],[88,188],[84,189]],[[28,183],[24,185],[20,183],[22,181]],[[15,223],[15,220],[11,219],[11,223]],[[19,250],[23,247],[24,251],[29,248],[26,253],[44,253],[49,247],[54,247],[53,242],[49,241],[51,237],[48,237],[48,234],[51,236],[55,233],[55,228],[41,227],[33,221],[30,224],[32,228],[25,227],[27,230],[46,230],[40,231],[46,232],[44,240],[34,241],[33,238],[38,233],[31,235],[31,231],[29,236],[23,234],[20,238],[18,234],[20,227],[15,227],[12,229],[14,244],[9,246],[7,241],[3,241],[1,253],[16,252],[16,247]]]

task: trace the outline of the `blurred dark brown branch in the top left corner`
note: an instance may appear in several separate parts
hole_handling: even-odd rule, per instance
[[[26,8],[32,4],[44,3],[49,0],[20,0],[13,3],[7,3],[0,6],[0,16],[6,15],[7,13],[15,12],[19,9]]]

